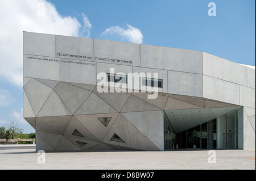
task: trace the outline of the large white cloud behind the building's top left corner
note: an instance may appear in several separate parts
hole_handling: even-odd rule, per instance
[[[23,31],[66,36],[90,35],[87,16],[84,25],[71,16],[61,16],[46,0],[2,0],[0,6],[0,77],[22,86]],[[80,28],[82,28],[80,32]]]

